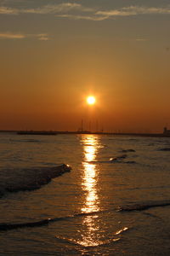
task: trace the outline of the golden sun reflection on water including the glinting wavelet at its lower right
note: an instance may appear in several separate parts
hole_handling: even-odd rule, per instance
[[[105,219],[101,218],[98,212],[102,211],[99,191],[99,172],[101,166],[97,163],[99,149],[104,146],[97,135],[82,135],[83,149],[82,161],[82,190],[84,191],[84,201],[82,212],[93,213],[84,215],[82,218],[81,237],[77,244],[82,247],[98,247],[109,244],[111,241],[119,241],[120,234],[128,230],[127,227],[118,228],[113,232],[112,237],[105,236]]]

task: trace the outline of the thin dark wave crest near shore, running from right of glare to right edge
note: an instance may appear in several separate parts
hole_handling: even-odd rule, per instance
[[[152,201],[146,203],[132,204],[118,208],[118,212],[144,211],[153,207],[168,207],[170,201]]]

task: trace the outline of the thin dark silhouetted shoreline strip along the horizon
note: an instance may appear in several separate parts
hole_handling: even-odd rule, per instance
[[[133,136],[133,137],[170,137],[163,133],[139,133],[139,132],[90,132],[90,131],[14,131],[0,130],[0,132],[13,132],[18,135],[58,135],[58,134],[92,134],[92,135],[111,135],[111,136]]]

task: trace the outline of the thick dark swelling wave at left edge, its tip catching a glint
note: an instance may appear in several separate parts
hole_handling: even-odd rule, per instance
[[[40,189],[54,177],[59,177],[65,172],[71,172],[71,166],[48,166],[40,168],[8,169],[0,180],[0,195],[6,192],[18,192]]]

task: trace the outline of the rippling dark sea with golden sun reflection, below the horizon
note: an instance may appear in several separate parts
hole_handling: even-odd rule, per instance
[[[170,255],[169,156],[163,137],[0,133],[0,254]]]

